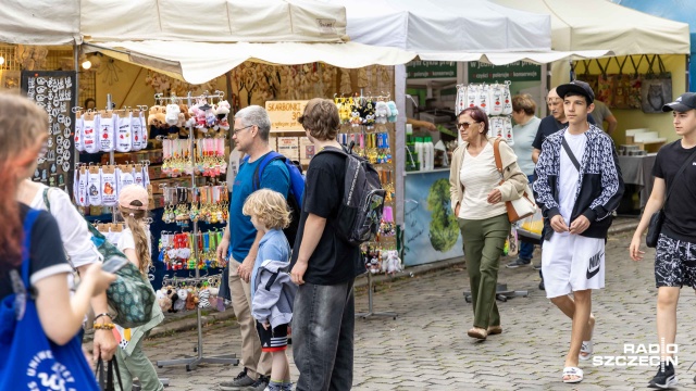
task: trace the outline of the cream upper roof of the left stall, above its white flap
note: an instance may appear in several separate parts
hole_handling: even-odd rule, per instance
[[[0,41],[343,42],[343,7],[307,0],[3,0]]]

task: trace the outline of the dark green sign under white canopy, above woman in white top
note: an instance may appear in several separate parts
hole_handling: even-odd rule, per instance
[[[480,61],[469,63],[469,83],[539,81],[542,65],[515,61],[508,65],[493,65]]]

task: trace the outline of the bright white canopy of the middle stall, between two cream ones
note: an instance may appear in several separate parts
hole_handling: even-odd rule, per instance
[[[346,7],[350,39],[426,61],[548,63],[610,54],[551,51],[551,17],[486,0],[322,0]],[[368,11],[366,11],[368,10]]]

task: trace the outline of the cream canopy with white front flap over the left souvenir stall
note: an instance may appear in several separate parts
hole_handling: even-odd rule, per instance
[[[191,10],[196,10],[192,12]],[[244,61],[353,68],[396,65],[415,54],[350,42],[343,5],[307,0],[3,1],[0,41],[85,45],[191,84]],[[40,28],[38,27],[40,26]]]

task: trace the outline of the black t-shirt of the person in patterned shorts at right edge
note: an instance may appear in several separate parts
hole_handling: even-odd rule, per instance
[[[696,243],[696,159],[689,162],[679,178],[676,172],[696,147],[685,149],[682,140],[660,148],[652,166],[652,175],[664,179],[664,195],[672,188],[664,204],[662,232],[671,238]]]

